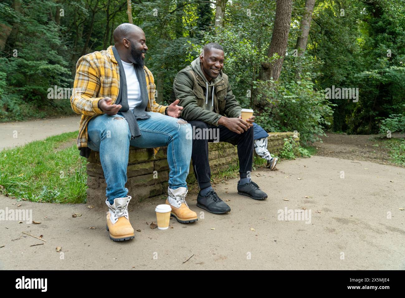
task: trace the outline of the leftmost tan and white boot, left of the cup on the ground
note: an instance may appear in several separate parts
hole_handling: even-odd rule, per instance
[[[113,241],[124,241],[135,238],[134,229],[129,222],[128,203],[132,199],[130,195],[117,197],[114,204],[110,205],[105,201],[109,211],[107,212],[106,229],[110,232],[110,239]]]

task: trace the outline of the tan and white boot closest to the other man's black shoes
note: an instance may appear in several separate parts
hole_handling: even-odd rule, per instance
[[[194,221],[198,221],[197,213],[190,210],[187,202],[185,202],[185,196],[188,192],[187,188],[168,188],[167,192],[168,197],[166,199],[166,204],[171,206],[171,215],[174,216],[179,223],[193,223]]]

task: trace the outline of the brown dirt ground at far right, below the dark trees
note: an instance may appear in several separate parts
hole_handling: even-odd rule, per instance
[[[372,161],[384,165],[395,165],[390,161],[384,135],[345,135],[326,133],[323,143],[315,143],[316,155],[341,159]],[[393,133],[393,138],[404,138],[404,134]],[[397,165],[396,165],[397,166]]]

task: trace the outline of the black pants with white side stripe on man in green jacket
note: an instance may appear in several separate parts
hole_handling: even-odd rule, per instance
[[[200,189],[211,186],[211,169],[208,161],[208,143],[215,141],[228,142],[238,146],[239,174],[246,178],[252,172],[253,161],[253,127],[241,134],[230,131],[223,125],[209,126],[203,121],[187,121],[193,129],[193,161],[194,175]],[[208,130],[207,130],[208,129]],[[214,130],[215,133],[214,133]],[[195,132],[195,133],[194,133]],[[200,134],[198,134],[201,132]]]

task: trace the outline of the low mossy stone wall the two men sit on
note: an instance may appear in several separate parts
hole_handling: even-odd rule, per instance
[[[283,148],[284,138],[293,137],[293,135],[292,132],[269,133],[267,146],[269,152],[277,156]],[[298,144],[299,135],[294,140]],[[208,148],[211,174],[226,170],[232,165],[238,165],[236,146],[220,142],[209,143]],[[126,188],[128,188],[128,195],[132,196],[131,202],[139,202],[148,197],[167,193],[169,170],[166,159],[167,148],[160,148],[156,159],[153,159],[152,150],[130,147]],[[87,204],[104,208],[106,183],[100,155],[96,151],[92,151],[88,158],[87,175]],[[187,182],[195,181],[193,168],[190,165]]]

